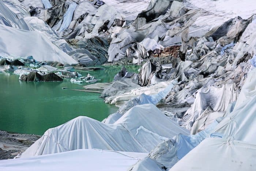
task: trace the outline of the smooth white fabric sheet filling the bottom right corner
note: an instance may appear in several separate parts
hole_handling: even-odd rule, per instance
[[[169,171],[254,171],[256,145],[207,138]]]

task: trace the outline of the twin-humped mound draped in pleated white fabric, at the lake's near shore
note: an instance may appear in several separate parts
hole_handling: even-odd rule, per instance
[[[113,124],[77,117],[47,130],[21,157],[31,157],[75,149],[105,149],[150,152],[159,143],[189,131],[178,126],[153,104],[135,106]]]

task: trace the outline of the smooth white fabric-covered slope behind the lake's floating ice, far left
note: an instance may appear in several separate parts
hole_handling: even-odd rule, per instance
[[[37,61],[57,61],[77,64],[46,37],[37,31],[26,31],[0,24],[0,52],[14,56],[33,56]]]

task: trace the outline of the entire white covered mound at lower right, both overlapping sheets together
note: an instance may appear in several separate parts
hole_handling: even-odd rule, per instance
[[[202,141],[170,171],[255,170],[255,75],[256,69],[253,69],[242,87],[234,110],[217,125],[215,133],[211,134],[214,138]]]

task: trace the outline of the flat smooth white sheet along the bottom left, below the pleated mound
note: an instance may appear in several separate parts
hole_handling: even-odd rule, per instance
[[[4,171],[127,171],[147,153],[79,149],[26,159],[1,160]]]

